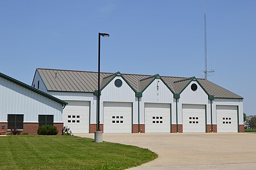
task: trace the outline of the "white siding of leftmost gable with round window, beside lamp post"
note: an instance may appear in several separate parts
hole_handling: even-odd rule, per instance
[[[122,80],[122,86],[117,88],[114,85],[114,81],[120,79]],[[136,101],[135,92],[130,86],[123,80],[121,76],[116,76],[101,92],[101,103],[100,103],[100,122],[103,121],[103,103],[104,102],[131,102],[133,103],[133,123],[138,123],[138,101]],[[97,98],[96,98],[97,100]],[[94,103],[97,103],[96,101]],[[95,107],[97,108],[97,107]],[[137,110],[135,110],[137,109]]]

